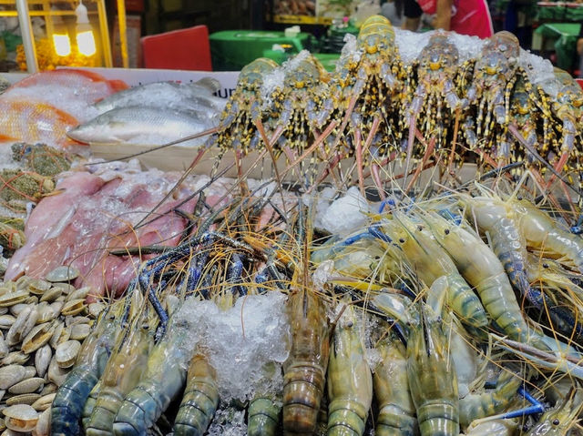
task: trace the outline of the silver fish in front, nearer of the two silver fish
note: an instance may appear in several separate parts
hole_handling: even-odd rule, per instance
[[[159,107],[128,106],[113,109],[67,132],[87,144],[138,144],[160,146],[195,135],[218,124],[216,117],[201,111],[160,110]],[[202,145],[200,137],[180,145]]]

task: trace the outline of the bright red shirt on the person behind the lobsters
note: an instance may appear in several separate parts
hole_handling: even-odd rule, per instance
[[[425,14],[437,12],[437,0],[416,0]],[[454,0],[450,30],[460,35],[489,38],[494,34],[486,0]]]

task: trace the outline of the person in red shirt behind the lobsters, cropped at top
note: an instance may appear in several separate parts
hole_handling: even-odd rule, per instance
[[[435,29],[481,38],[494,33],[486,0],[404,0],[404,28],[417,30],[423,13],[434,15],[431,26]]]

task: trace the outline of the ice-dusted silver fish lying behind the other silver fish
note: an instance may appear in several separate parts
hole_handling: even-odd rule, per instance
[[[213,96],[219,85],[209,77],[194,83],[155,82],[120,91],[97,102],[99,114],[127,106],[155,106],[169,109],[210,108],[221,111],[226,100]]]

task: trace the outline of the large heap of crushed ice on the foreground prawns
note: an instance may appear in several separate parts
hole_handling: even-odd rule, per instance
[[[187,299],[175,315],[189,319],[191,341],[217,371],[222,401],[248,401],[254,393],[283,387],[281,363],[290,352],[286,297],[279,292],[250,295],[223,311],[213,301]],[[270,368],[271,362],[277,370]]]

